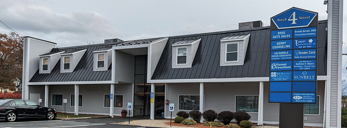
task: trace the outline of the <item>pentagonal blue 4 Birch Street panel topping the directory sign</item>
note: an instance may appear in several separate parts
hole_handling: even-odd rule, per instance
[[[278,29],[308,27],[316,13],[292,8],[271,18]]]

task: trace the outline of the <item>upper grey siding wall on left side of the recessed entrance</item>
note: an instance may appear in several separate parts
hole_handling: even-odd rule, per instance
[[[134,82],[135,56],[115,50],[115,80],[119,82]]]

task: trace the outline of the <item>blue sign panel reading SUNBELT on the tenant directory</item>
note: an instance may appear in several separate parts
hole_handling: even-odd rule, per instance
[[[293,71],[293,81],[315,81],[316,71]]]

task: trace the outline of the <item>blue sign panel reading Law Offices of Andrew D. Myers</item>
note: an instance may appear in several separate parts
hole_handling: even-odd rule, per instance
[[[293,70],[316,70],[316,60],[294,60]]]

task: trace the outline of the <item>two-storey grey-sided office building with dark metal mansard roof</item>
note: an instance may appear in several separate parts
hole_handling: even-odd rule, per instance
[[[305,126],[323,126],[328,27],[318,28],[317,104],[305,105]],[[178,111],[246,111],[250,121],[279,124],[269,103],[270,27],[55,48],[24,37],[23,99],[75,114],[170,118]],[[154,103],[150,102],[154,92]],[[110,94],[113,94],[110,100]],[[77,107],[78,104],[78,107]],[[162,113],[163,112],[163,113]],[[329,117],[325,117],[329,118]]]

